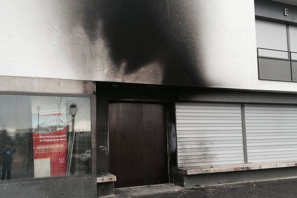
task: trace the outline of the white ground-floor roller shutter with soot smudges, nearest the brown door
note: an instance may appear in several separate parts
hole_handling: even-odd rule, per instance
[[[176,103],[178,166],[244,163],[241,106]]]

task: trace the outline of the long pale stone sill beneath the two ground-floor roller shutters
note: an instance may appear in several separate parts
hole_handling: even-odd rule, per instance
[[[263,163],[242,163],[242,164],[227,164],[213,166],[196,166],[196,167],[174,167],[173,173],[183,175],[197,175],[206,173],[220,173],[243,170],[258,170],[268,168],[284,168],[297,166],[297,161],[273,161]]]

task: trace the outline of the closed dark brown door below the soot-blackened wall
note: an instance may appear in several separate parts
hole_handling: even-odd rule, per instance
[[[109,104],[110,172],[115,188],[168,183],[166,114],[162,104]]]

